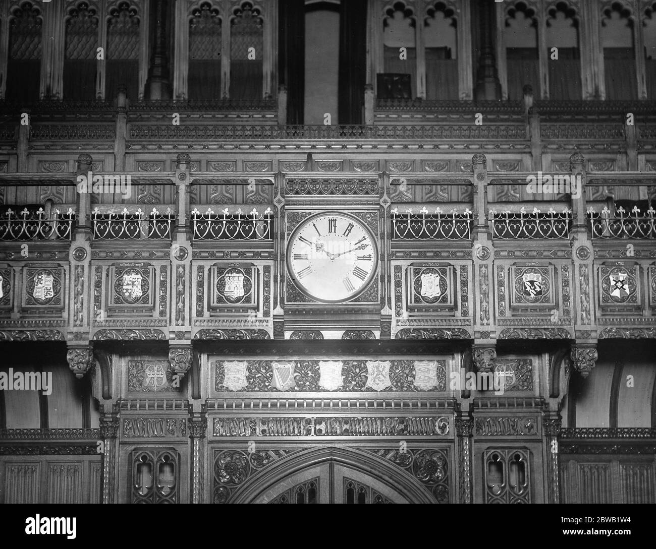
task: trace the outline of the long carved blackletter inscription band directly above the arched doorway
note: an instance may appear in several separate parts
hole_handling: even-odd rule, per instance
[[[447,417],[215,417],[213,436],[447,436]]]

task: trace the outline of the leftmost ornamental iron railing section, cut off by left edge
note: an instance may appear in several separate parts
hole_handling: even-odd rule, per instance
[[[75,218],[71,208],[64,213],[54,210],[50,216],[43,208],[36,212],[9,208],[0,213],[0,240],[70,240]]]

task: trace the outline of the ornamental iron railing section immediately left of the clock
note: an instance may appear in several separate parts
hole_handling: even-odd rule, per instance
[[[239,208],[230,213],[228,208],[215,214],[211,208],[202,214],[197,208],[192,210],[194,240],[273,240],[274,213],[266,208],[260,214],[253,208],[245,213]]]

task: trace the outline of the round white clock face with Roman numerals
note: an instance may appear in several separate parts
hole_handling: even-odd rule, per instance
[[[308,297],[341,303],[362,293],[378,267],[376,238],[360,219],[342,212],[310,216],[287,244],[287,271]]]

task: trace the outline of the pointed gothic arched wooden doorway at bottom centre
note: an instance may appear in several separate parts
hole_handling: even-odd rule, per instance
[[[402,468],[359,449],[296,451],[251,476],[234,503],[436,503]]]

